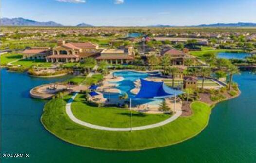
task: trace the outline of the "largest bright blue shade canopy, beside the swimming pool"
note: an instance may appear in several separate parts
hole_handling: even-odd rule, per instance
[[[183,92],[166,86],[163,82],[141,80],[140,92],[135,98],[166,98],[180,95]]]

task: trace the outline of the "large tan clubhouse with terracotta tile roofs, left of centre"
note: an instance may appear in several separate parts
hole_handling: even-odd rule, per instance
[[[91,42],[66,43],[58,42],[55,48],[32,47],[23,51],[24,59],[45,59],[46,62],[78,62],[87,57],[97,61],[107,61],[110,64],[123,64],[132,62],[134,49],[127,46],[124,49],[99,49],[97,44]]]

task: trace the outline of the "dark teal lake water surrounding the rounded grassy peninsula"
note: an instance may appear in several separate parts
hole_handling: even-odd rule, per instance
[[[40,123],[45,101],[30,98],[28,91],[61,80],[1,70],[1,154],[29,153],[29,158],[1,158],[1,163],[256,163],[256,75],[234,77],[241,96],[219,103],[198,136],[136,152],[78,147],[46,131]]]

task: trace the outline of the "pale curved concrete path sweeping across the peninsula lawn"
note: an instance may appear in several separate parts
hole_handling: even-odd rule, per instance
[[[104,127],[104,126],[98,126],[98,125],[93,125],[91,123],[87,123],[84,121],[81,121],[79,119],[77,119],[72,111],[71,111],[71,104],[74,100],[74,98],[77,96],[78,93],[75,93],[72,98],[68,101],[67,105],[66,105],[66,113],[69,116],[69,118],[82,126],[88,127],[88,128],[92,128],[92,129],[97,129],[97,130],[106,130],[106,131],[134,131],[134,130],[146,130],[146,129],[151,129],[151,128],[155,128],[155,127],[160,127],[163,125],[166,125],[174,120],[176,120],[179,116],[181,116],[182,111],[181,110],[177,110],[176,113],[171,116],[169,119],[166,119],[162,122],[159,123],[155,123],[155,124],[151,124],[151,125],[146,125],[146,126],[139,126],[139,127],[132,127],[132,128],[110,128],[110,127]]]

